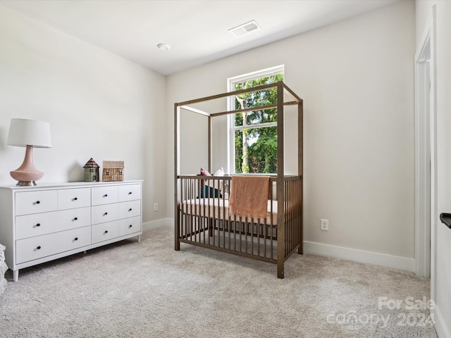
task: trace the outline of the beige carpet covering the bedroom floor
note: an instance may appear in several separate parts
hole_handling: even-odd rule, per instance
[[[278,280],[270,263],[174,251],[161,227],[21,270],[0,296],[0,337],[436,337],[429,292],[412,273],[313,255]]]

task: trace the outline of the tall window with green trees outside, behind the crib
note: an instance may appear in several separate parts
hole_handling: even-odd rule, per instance
[[[283,81],[283,65],[228,79],[228,90],[247,89]],[[276,104],[277,88],[231,96],[229,109]],[[231,173],[277,173],[277,109],[229,115]]]

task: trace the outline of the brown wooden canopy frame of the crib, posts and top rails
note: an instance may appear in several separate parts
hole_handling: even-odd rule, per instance
[[[199,104],[205,101],[212,101],[216,99],[228,98],[230,96],[235,96],[239,94],[245,94],[249,92],[257,92],[264,89],[269,88],[277,88],[277,102],[276,104],[266,105],[266,106],[258,106],[258,107],[250,107],[250,108],[242,108],[235,109],[230,111],[218,111],[218,112],[206,112],[202,111],[198,108],[194,108],[191,105]],[[291,97],[292,101],[285,100],[285,94],[287,97]],[[284,185],[283,181],[285,178],[285,130],[284,130],[284,118],[285,118],[285,106],[297,106],[297,176],[299,177],[301,184],[301,218],[300,218],[300,231],[299,231],[299,246],[297,248],[298,253],[303,253],[302,246],[302,175],[303,175],[303,100],[295,94],[284,82],[275,82],[273,84],[263,84],[260,86],[252,87],[249,89],[240,89],[233,92],[224,92],[222,94],[216,94],[212,96],[205,96],[199,99],[192,99],[189,101],[178,102],[174,104],[174,173],[175,173],[175,185],[174,185],[174,195],[175,195],[175,250],[180,250],[180,238],[179,238],[179,213],[178,213],[178,179],[183,177],[180,175],[180,113],[181,111],[190,111],[192,113],[197,113],[199,115],[204,115],[208,118],[208,170],[211,172],[212,165],[212,119],[222,115],[230,115],[236,113],[243,113],[247,111],[255,111],[257,109],[269,109],[276,108],[277,109],[277,174],[275,178],[277,184],[277,196],[284,196]],[[284,199],[278,198],[278,210],[283,210],[284,208]],[[278,225],[283,225],[285,223],[284,213],[278,213],[277,222]],[[287,256],[284,255],[284,238],[285,238],[285,227],[280,226],[277,228],[277,238],[278,238],[278,277],[284,277],[283,271],[283,263]]]

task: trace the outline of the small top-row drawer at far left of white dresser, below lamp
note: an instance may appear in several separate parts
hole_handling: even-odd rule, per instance
[[[44,213],[58,209],[57,190],[38,190],[37,192],[16,192],[16,215]]]

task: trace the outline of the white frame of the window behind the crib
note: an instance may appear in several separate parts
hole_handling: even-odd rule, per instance
[[[259,79],[261,77],[268,77],[271,75],[283,74],[283,80],[285,81],[285,65],[276,65],[275,67],[266,68],[262,70],[257,70],[252,73],[247,73],[243,75],[237,75],[234,77],[229,77],[227,79],[227,91],[235,91],[235,84],[240,82],[245,82],[249,80]],[[227,101],[227,108],[229,111],[235,110],[235,96],[229,96]],[[259,125],[252,125],[252,127],[272,127],[277,125],[277,123],[261,123]],[[235,114],[228,115],[227,118],[227,130],[228,130],[228,147],[227,147],[227,165],[228,173],[236,173],[235,171],[235,131],[249,129],[249,125],[244,127],[235,126]]]

